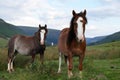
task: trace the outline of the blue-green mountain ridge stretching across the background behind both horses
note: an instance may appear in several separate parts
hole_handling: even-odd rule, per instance
[[[16,34],[23,34],[27,36],[32,36],[38,30],[37,27],[29,26],[15,26],[10,23],[5,22],[0,19],[0,37],[8,39]],[[51,43],[57,44],[60,30],[48,29],[46,43],[51,45]],[[98,36],[94,38],[86,38],[87,45],[97,45],[102,43],[108,43],[120,40],[120,31],[108,36]]]

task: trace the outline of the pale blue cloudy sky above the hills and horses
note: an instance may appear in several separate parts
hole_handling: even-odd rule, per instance
[[[120,31],[120,0],[0,0],[0,18],[16,26],[62,30],[69,27],[72,10],[86,9],[86,37]]]

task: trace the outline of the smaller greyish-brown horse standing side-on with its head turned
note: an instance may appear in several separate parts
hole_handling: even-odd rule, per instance
[[[32,56],[32,62],[35,55],[40,54],[41,63],[43,63],[45,51],[45,39],[47,34],[47,25],[39,25],[39,30],[34,36],[15,35],[8,42],[8,71],[14,71],[13,61],[17,53]],[[22,61],[22,60],[21,60]]]

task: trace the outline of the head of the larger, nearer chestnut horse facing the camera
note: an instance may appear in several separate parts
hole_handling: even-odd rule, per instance
[[[76,13],[74,10],[72,11],[73,18],[70,23],[70,30],[73,31],[78,42],[84,40],[85,25],[87,23],[86,13],[86,10],[80,13]]]

